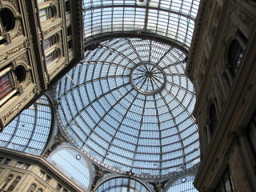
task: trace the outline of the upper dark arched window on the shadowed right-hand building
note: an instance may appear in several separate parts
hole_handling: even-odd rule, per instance
[[[230,43],[228,62],[230,66],[231,74],[234,76],[237,73],[238,67],[241,65],[243,56],[243,48],[238,42],[238,40],[234,39]]]

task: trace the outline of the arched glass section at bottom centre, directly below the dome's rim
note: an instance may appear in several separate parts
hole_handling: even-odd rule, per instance
[[[130,192],[150,192],[148,187],[144,186],[142,182],[138,182],[132,178],[111,178],[102,185],[98,186],[95,192],[119,192],[119,191],[130,191]]]

